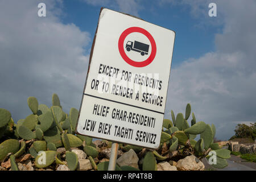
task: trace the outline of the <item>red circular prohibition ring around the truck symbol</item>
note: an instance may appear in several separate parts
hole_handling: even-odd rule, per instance
[[[123,49],[123,42],[125,42],[126,36],[133,32],[139,32],[139,33],[145,35],[148,38],[148,40],[150,40],[151,54],[148,57],[148,59],[141,61],[141,62],[131,60],[126,55],[125,50]],[[119,49],[120,55],[122,56],[123,60],[125,60],[126,63],[132,65],[133,67],[146,67],[148,64],[150,64],[154,60],[155,55],[156,55],[156,44],[155,44],[154,38],[148,31],[144,30],[141,27],[130,27],[130,28],[127,28],[125,31],[123,31],[118,40],[118,49]]]

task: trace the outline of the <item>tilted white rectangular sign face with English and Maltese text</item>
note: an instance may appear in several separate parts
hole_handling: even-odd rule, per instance
[[[77,133],[158,148],[174,31],[102,9]]]

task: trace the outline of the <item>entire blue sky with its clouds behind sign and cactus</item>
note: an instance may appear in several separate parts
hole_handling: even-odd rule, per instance
[[[31,114],[30,96],[51,106],[57,93],[66,113],[79,109],[102,6],[176,32],[165,118],[190,103],[222,140],[256,121],[255,0],[9,0],[0,1],[0,107],[15,122]]]

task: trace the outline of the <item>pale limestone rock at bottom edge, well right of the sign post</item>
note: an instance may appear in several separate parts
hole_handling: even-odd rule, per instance
[[[177,169],[180,171],[203,171],[204,164],[195,155],[190,155],[177,162]]]

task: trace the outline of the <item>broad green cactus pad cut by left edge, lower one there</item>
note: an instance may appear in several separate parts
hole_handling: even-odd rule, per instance
[[[2,142],[0,144],[0,161],[5,159],[7,154],[15,154],[16,152],[18,152],[19,146],[19,141],[15,139],[8,139]]]

